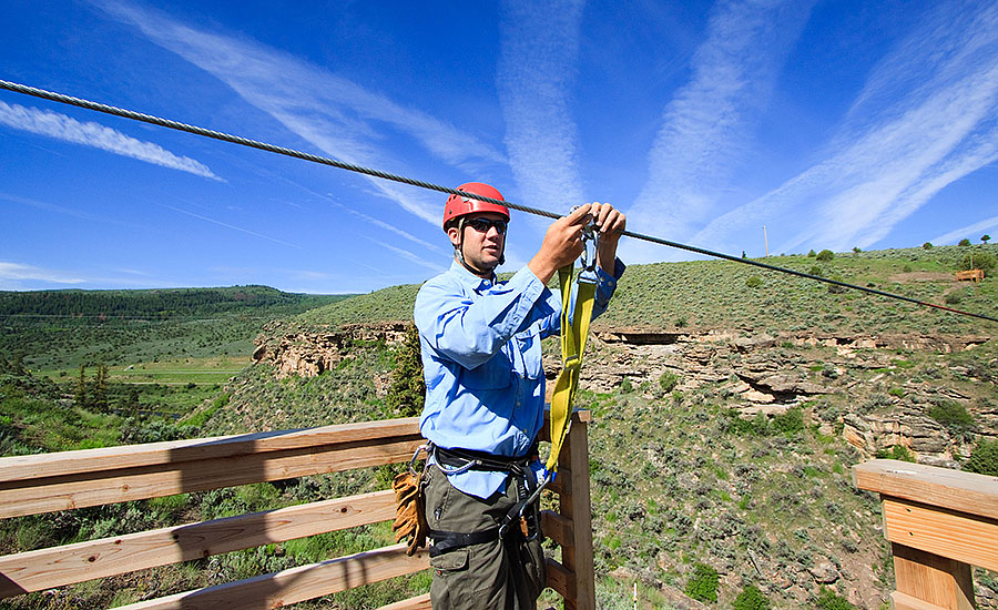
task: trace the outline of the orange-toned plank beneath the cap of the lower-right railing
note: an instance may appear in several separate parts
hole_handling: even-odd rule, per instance
[[[884,498],[885,535],[892,542],[998,571],[998,521]]]

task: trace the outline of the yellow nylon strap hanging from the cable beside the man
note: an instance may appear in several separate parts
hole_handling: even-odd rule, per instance
[[[585,338],[589,335],[589,323],[592,321],[592,303],[595,298],[597,285],[591,282],[578,282],[576,286],[576,312],[569,323],[569,308],[572,296],[572,265],[558,270],[558,282],[561,285],[561,373],[554,382],[551,395],[551,455],[548,456],[548,472],[558,471],[558,455],[568,436],[572,418],[572,404],[579,388],[579,372],[582,369],[582,354],[585,352]]]

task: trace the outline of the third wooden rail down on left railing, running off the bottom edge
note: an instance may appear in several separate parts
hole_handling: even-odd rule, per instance
[[[406,556],[406,545],[394,545],[264,575],[238,582],[141,601],[119,610],[264,610],[345,591],[429,567],[429,556]]]

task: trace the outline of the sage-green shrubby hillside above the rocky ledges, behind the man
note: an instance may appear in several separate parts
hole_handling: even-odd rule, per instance
[[[994,261],[998,245],[849,252],[831,261],[807,255],[771,256],[764,262],[998,316],[994,282],[970,285],[954,279],[954,272],[963,268],[969,252],[978,260],[990,256]],[[418,289],[419,285],[410,284],[355,296],[306,312],[292,324],[307,329],[409,319]],[[610,308],[595,326],[959,334],[977,332],[980,321],[729,261],[695,261],[630,266]]]

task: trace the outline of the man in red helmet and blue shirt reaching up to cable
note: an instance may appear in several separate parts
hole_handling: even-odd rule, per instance
[[[505,201],[479,182],[458,190]],[[432,445],[424,484],[437,610],[536,608],[546,580],[537,502],[526,510],[532,518],[522,529],[517,508],[536,489],[541,468],[540,342],[561,325],[561,296],[547,283],[581,255],[590,223],[599,228],[593,316],[605,311],[624,268],[617,244],[625,218],[609,204],[592,203],[554,221],[527,266],[498,282],[508,223],[505,205],[448,197],[444,231],[454,263],[416,297],[426,378],[420,430]]]

